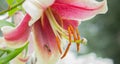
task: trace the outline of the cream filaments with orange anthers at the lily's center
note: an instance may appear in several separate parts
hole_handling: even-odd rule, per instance
[[[78,28],[73,28],[72,25],[69,25],[68,29],[66,30],[63,27],[62,19],[60,17],[56,18],[54,16],[54,14],[52,13],[50,8],[48,8],[45,11],[45,13],[46,13],[46,16],[48,17],[51,28],[52,28],[55,36],[56,36],[57,47],[58,47],[58,50],[59,50],[60,54],[62,54],[62,49],[61,49],[61,39],[62,39],[62,37],[69,41],[68,46],[67,46],[65,52],[63,53],[61,59],[66,56],[66,54],[67,54],[67,52],[68,52],[68,50],[71,46],[71,43],[76,43],[77,51],[79,52],[81,39],[80,39],[80,34],[78,32]],[[60,21],[57,21],[58,19]],[[60,23],[58,23],[58,22],[60,22]]]

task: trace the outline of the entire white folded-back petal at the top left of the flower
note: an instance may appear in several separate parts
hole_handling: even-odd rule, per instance
[[[55,0],[26,0],[23,4],[25,11],[32,17],[29,26],[34,24],[43,14],[43,11],[51,6]]]

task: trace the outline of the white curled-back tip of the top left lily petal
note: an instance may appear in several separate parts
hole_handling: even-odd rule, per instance
[[[31,21],[29,22],[29,26],[35,23],[43,14],[42,7],[39,4],[26,0],[23,3],[23,8],[25,11],[31,16]]]

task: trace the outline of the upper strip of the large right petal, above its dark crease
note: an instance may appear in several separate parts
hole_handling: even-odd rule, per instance
[[[98,2],[96,0],[56,0],[55,3],[69,4],[83,8],[96,8],[104,2],[106,2],[106,0],[103,0],[102,2]]]

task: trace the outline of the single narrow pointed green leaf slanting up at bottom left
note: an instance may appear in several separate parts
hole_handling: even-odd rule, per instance
[[[28,42],[24,46],[13,50],[7,56],[0,58],[0,64],[7,64],[10,60],[20,54],[26,47],[28,47]]]

